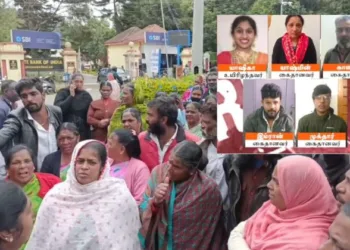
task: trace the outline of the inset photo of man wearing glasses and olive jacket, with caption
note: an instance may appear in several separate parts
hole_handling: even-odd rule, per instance
[[[295,81],[298,148],[346,148],[348,81]]]

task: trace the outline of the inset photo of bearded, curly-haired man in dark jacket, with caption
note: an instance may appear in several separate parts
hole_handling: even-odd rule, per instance
[[[294,114],[294,80],[244,81],[245,147],[293,147]]]

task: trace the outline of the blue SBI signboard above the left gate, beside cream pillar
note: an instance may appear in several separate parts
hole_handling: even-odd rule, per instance
[[[12,30],[12,42],[22,43],[24,49],[61,49],[61,34],[31,30]]]

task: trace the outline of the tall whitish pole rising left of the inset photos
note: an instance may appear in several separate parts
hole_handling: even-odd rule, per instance
[[[192,34],[192,72],[198,67],[203,72],[203,33],[204,33],[204,0],[194,0],[193,34]]]

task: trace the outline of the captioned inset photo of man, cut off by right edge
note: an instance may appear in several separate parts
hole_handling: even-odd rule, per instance
[[[323,78],[350,78],[350,15],[321,16]]]

